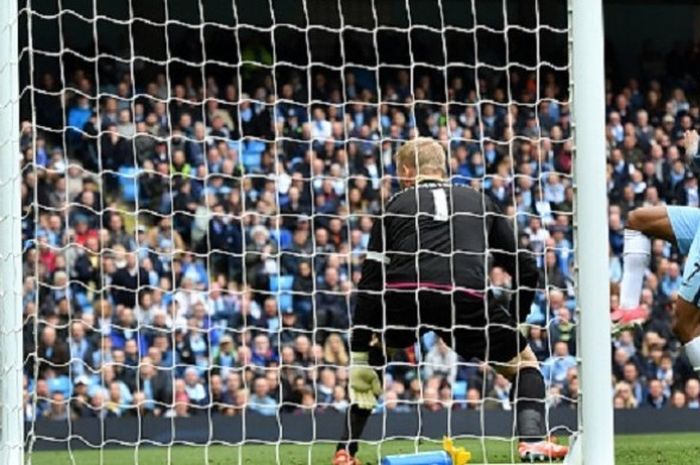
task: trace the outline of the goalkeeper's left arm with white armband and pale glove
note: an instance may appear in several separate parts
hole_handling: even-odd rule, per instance
[[[369,346],[373,333],[381,330],[382,326],[381,291],[387,260],[384,253],[383,220],[377,219],[372,226],[367,254],[362,264],[350,343],[350,399],[366,410],[374,408],[377,396],[382,393],[379,375],[369,363]]]

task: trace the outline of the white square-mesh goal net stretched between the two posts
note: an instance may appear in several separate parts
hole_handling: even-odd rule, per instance
[[[369,233],[417,136],[535,257],[523,337],[549,433],[576,431],[566,2],[26,0],[18,18],[32,463],[330,461]],[[507,303],[513,278],[481,290]],[[492,367],[427,332],[382,372],[365,461],[442,435],[516,461]]]

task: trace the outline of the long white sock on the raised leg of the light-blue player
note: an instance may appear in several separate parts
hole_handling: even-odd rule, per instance
[[[625,229],[623,257],[625,263],[620,283],[620,307],[635,308],[639,306],[644,273],[651,259],[651,241],[639,231]]]

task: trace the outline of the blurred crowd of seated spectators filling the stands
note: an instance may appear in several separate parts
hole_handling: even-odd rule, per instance
[[[449,105],[434,74],[400,69],[381,84],[318,72],[310,89],[302,74],[254,67],[240,81],[157,74],[138,95],[129,73],[97,88],[75,69],[64,100],[45,75],[36,126],[21,126],[26,419],[347,408],[363,250],[397,188],[392,154],[418,134],[443,143],[451,182],[489,196],[535,254],[528,337],[550,407],[574,408],[567,86],[512,74],[510,89],[484,79],[478,93],[449,76]],[[700,108],[684,89],[608,85],[613,306],[629,211],[700,203],[679,148]],[[663,241],[653,256],[648,321],[614,337],[611,396],[617,408],[699,408],[669,323],[683,259]],[[489,298],[507,300],[511,277],[489,278]],[[377,409],[509,409],[509,394],[427,334],[389,364]]]

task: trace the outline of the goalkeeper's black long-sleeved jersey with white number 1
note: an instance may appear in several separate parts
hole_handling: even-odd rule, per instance
[[[384,302],[387,290],[454,291],[474,303],[468,311],[483,313],[490,266],[502,267],[513,278],[517,294],[511,314],[519,309],[524,318],[537,286],[537,265],[530,252],[517,250],[511,222],[488,197],[442,182],[423,182],[394,195],[372,227],[357,291],[352,350],[366,350],[369,328],[381,330],[384,305],[391,305]]]

